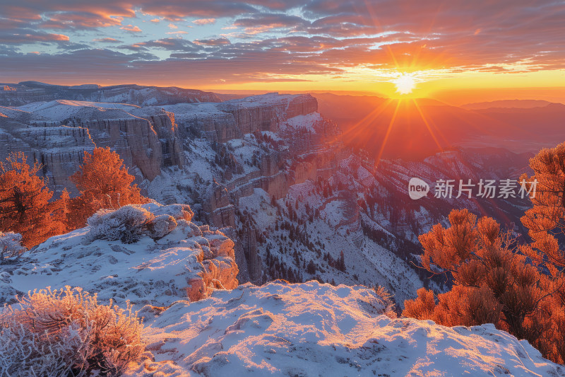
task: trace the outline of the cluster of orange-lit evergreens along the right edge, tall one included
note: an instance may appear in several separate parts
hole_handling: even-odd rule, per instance
[[[530,167],[533,177],[521,181],[537,182],[525,183],[526,189],[537,187],[522,221],[532,242],[516,247],[494,219],[451,211],[451,226],[436,224],[420,242],[424,268],[443,271],[453,288],[437,298],[418,290],[403,315],[442,325],[494,323],[563,364],[565,252],[556,235],[565,231],[565,143],[540,151]]]

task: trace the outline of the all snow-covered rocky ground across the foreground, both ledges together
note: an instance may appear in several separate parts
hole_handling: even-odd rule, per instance
[[[263,200],[247,208],[266,205],[265,192],[254,197]],[[191,216],[187,206],[155,203],[97,214],[86,228],[2,265],[0,300],[67,284],[100,303],[131,299],[147,347],[127,376],[565,376],[563,366],[493,325],[397,319],[366,286],[237,286],[234,244]],[[370,259],[364,248],[358,254]],[[208,294],[195,301],[194,286]]]

